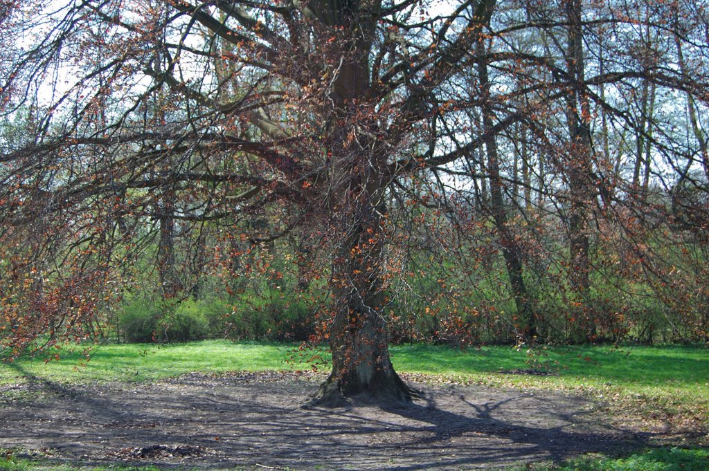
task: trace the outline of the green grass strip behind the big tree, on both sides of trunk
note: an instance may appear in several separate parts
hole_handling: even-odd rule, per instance
[[[20,358],[0,363],[0,385],[28,375],[57,382],[159,380],[193,371],[305,370],[295,344],[201,341],[188,344],[106,344],[91,360],[82,348],[62,348],[60,360]],[[679,391],[709,396],[709,348],[704,346],[563,346],[537,348],[530,356],[509,346],[462,351],[425,344],[393,346],[396,370],[461,378],[491,385],[538,387],[622,387],[629,392]],[[323,353],[327,358],[327,353]],[[291,361],[289,361],[289,359]],[[293,361],[295,360],[295,361]],[[547,369],[553,375],[503,375],[509,370]]]

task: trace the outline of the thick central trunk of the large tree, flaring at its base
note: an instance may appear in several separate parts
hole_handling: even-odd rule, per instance
[[[359,47],[353,41],[354,49]],[[328,212],[333,239],[330,290],[332,321],[327,333],[333,370],[311,404],[338,406],[364,395],[376,402],[410,402],[418,392],[406,386],[389,358],[383,317],[386,150],[376,137],[376,117],[362,113],[352,123],[352,103],[364,103],[368,62],[352,55],[337,64],[330,93],[330,185]]]

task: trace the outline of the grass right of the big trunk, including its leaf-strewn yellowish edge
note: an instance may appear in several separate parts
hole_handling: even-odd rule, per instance
[[[637,419],[642,430],[658,424],[709,429],[709,349],[705,346],[562,346],[526,350],[504,346],[451,351],[444,346],[392,348],[400,371],[493,387],[567,390],[601,398],[608,412]],[[530,363],[532,363],[530,365]],[[552,375],[502,372],[547,368]],[[708,470],[709,471],[709,468]]]

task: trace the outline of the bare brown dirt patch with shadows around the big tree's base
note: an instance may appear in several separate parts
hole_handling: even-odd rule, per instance
[[[409,378],[411,380],[411,378]],[[152,383],[0,387],[0,448],[72,463],[294,470],[494,469],[642,445],[603,404],[549,391],[414,383],[382,409],[300,407],[318,378],[184,375]]]

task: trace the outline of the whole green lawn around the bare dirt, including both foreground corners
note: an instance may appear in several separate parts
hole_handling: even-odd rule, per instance
[[[295,344],[202,341],[189,344],[94,346],[91,360],[81,348],[62,348],[60,360],[21,358],[0,363],[0,386],[33,380],[81,384],[137,382],[184,373],[247,370],[308,370]],[[327,360],[327,353],[320,354]],[[709,349],[705,346],[563,346],[515,350],[485,346],[460,351],[446,346],[393,346],[396,370],[420,380],[491,387],[570,390],[609,399],[616,416],[662,414],[663,419],[709,426]],[[327,370],[327,365],[320,365]],[[524,374],[542,370],[548,375]],[[510,372],[515,374],[510,374]],[[0,471],[40,469],[34,461],[0,459]],[[71,467],[43,469],[69,471]],[[87,468],[82,468],[86,470]],[[114,468],[93,468],[106,470]],[[130,468],[115,468],[128,470]],[[133,468],[135,469],[135,468]],[[146,471],[148,468],[141,468]],[[564,465],[534,465],[532,470],[709,470],[706,448],[651,448],[625,457],[586,456]]]

